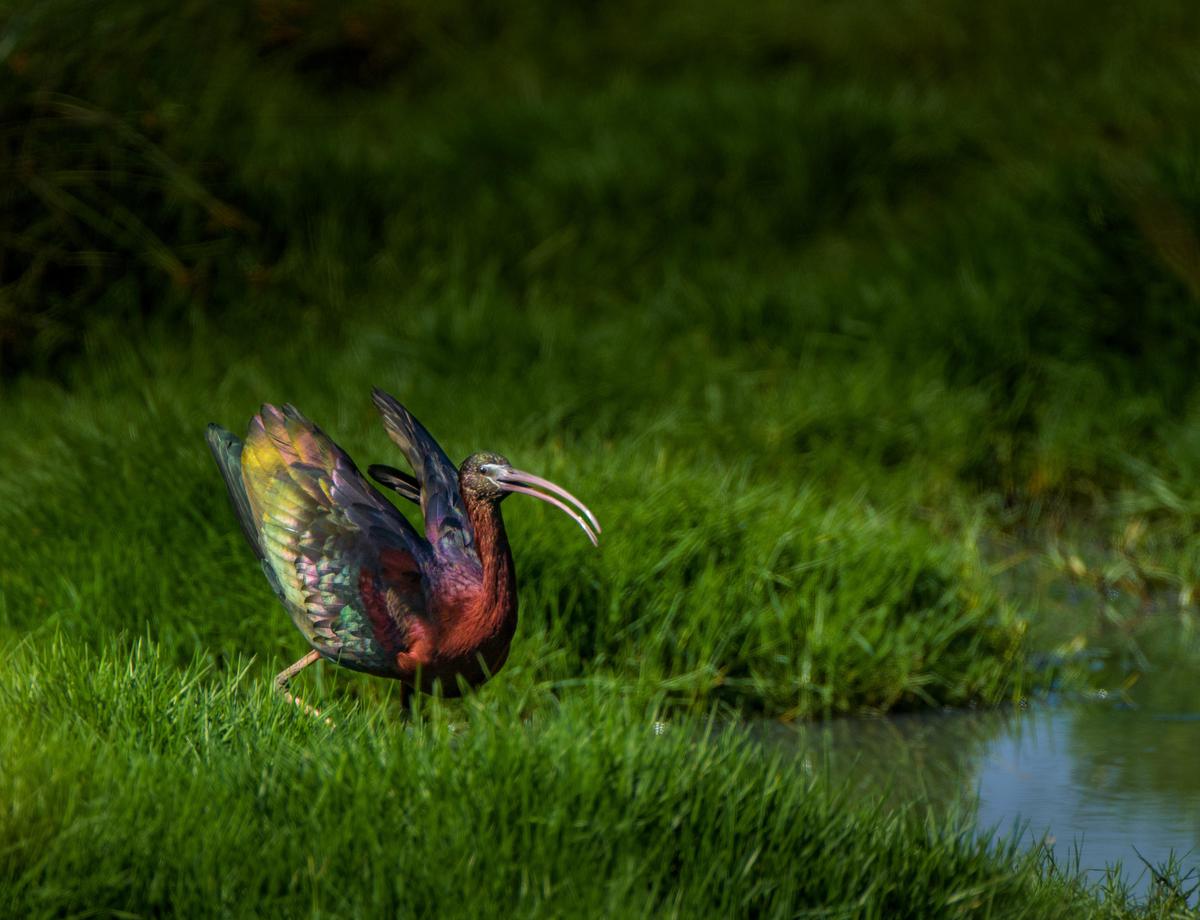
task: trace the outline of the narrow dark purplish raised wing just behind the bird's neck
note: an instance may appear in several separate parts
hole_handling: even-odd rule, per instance
[[[372,391],[388,434],[416,474],[425,536],[439,554],[474,543],[458,491],[458,470],[413,414],[379,387]]]

